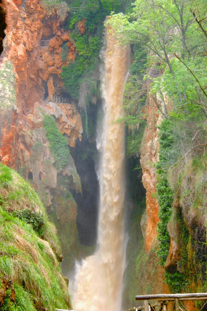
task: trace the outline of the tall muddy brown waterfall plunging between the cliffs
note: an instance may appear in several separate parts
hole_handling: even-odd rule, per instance
[[[94,255],[77,268],[73,304],[75,310],[119,311],[126,253],[123,224],[125,129],[123,122],[114,121],[122,116],[129,47],[121,47],[114,36],[106,34],[106,47],[102,52],[104,116],[97,143],[101,155],[98,241]]]

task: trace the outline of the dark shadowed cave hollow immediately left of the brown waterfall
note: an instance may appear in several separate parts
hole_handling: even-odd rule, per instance
[[[73,196],[77,203],[76,224],[80,243],[92,246],[97,237],[99,183],[94,159],[87,152],[88,144],[86,137],[83,137],[82,142],[76,142],[73,158],[81,179],[82,195],[74,193]]]

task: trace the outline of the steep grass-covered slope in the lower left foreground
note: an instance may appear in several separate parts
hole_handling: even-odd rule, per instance
[[[0,164],[0,309],[70,309],[56,228],[39,196]]]

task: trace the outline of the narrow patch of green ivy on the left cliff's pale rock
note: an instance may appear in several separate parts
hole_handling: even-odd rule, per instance
[[[68,142],[62,136],[58,126],[51,115],[44,115],[43,126],[46,129],[46,136],[49,141],[50,150],[54,156],[58,170],[67,165],[70,151]]]

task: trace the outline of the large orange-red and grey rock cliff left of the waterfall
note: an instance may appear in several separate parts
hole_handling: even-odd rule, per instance
[[[77,207],[71,192],[81,193],[81,182],[71,156],[66,167],[57,171],[41,113],[55,118],[69,146],[81,141],[83,128],[75,104],[68,99],[67,104],[53,102],[57,101],[53,95],[66,97],[60,74],[76,54],[70,31],[62,26],[68,7],[64,2],[39,0],[4,0],[3,7],[8,26],[0,58],[2,161],[17,169],[39,193],[58,228],[63,255],[70,253],[68,268],[80,253]]]

